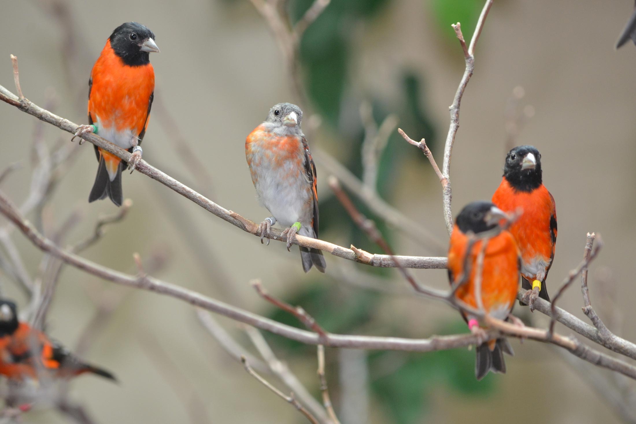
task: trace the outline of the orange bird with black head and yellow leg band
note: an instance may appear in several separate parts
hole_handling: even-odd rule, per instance
[[[509,151],[504,177],[492,203],[505,212],[523,210],[510,227],[521,252],[522,287],[529,290],[524,299],[530,305],[538,296],[550,301],[546,277],[555,257],[556,207],[541,179],[541,153],[534,146],[518,146]]]

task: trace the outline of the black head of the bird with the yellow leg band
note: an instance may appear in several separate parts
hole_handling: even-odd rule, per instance
[[[518,146],[508,152],[504,177],[518,191],[541,186],[541,153],[534,146]]]

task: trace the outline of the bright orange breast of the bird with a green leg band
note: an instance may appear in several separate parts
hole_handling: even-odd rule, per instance
[[[108,40],[93,65],[91,78],[88,113],[93,122],[99,117],[102,127],[141,133],[148,125],[148,106],[155,90],[153,65],[125,65]]]

